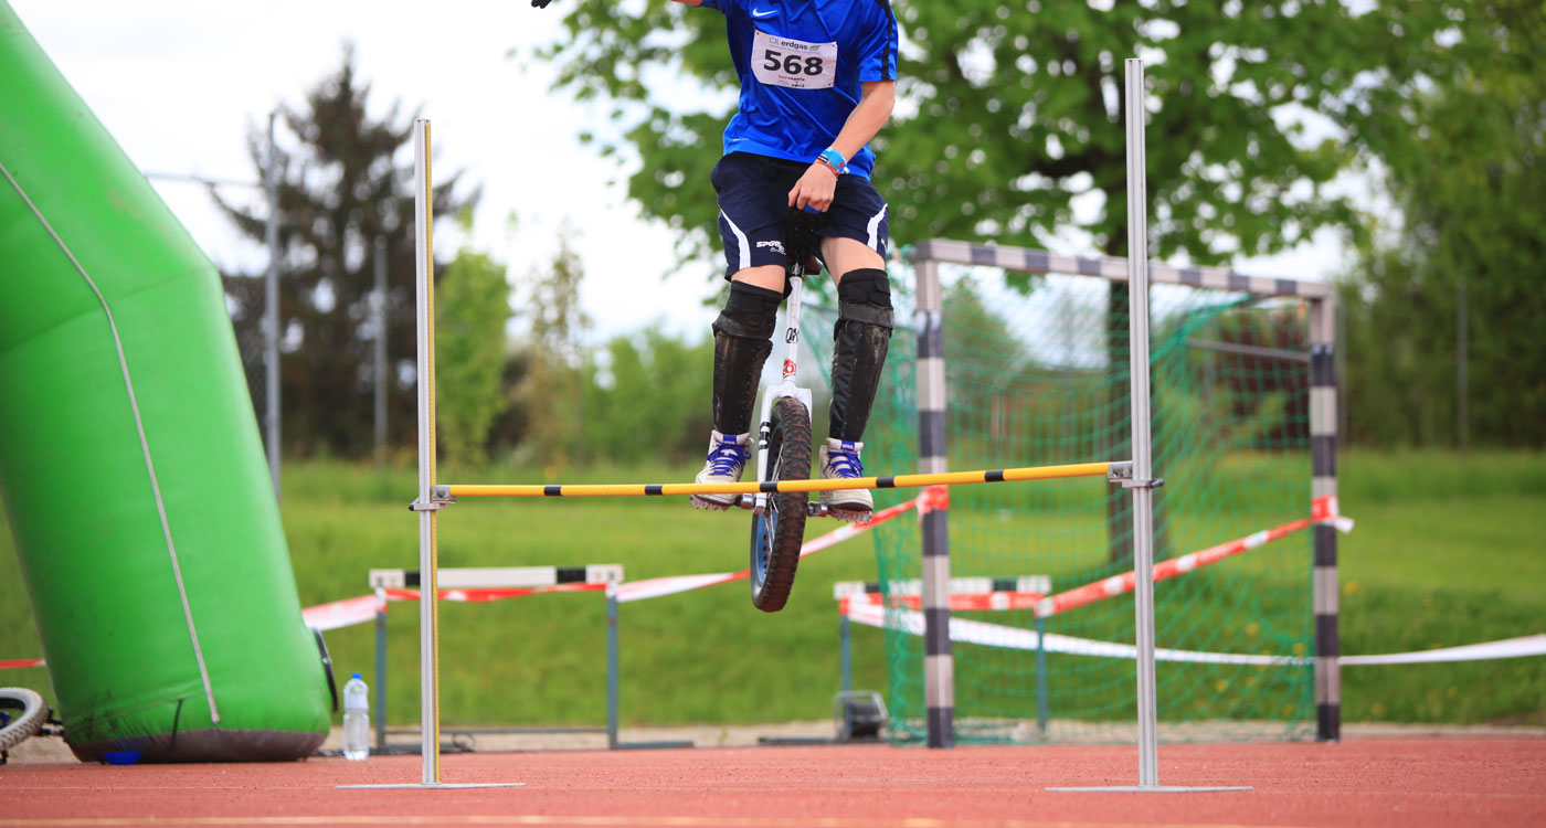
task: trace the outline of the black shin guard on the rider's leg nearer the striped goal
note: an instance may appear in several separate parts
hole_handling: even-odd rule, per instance
[[[838,283],[838,323],[832,327],[832,408],[827,433],[860,442],[890,348],[890,283],[875,267],[849,270]]]

